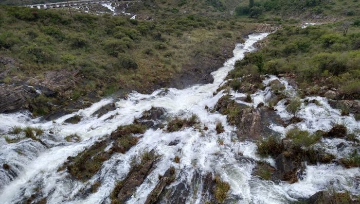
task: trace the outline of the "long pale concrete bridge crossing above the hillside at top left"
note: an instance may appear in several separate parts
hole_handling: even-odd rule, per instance
[[[25,5],[25,7],[38,8],[38,9],[49,9],[49,8],[62,8],[62,7],[72,7],[72,6],[82,6],[89,4],[101,4],[101,3],[111,3],[111,2],[127,2],[127,1],[137,1],[137,0],[75,0],[75,1],[63,1],[56,3],[42,3],[42,4],[32,4]]]

